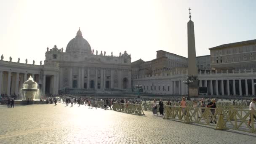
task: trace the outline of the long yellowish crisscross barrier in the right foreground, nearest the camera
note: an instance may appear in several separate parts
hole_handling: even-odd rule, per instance
[[[215,129],[233,129],[256,133],[256,123],[253,118],[256,110],[248,109],[225,109],[207,107],[177,107],[165,106],[165,116],[163,119],[183,121],[183,123],[198,123],[203,125],[215,125]],[[251,119],[251,127],[248,120]],[[216,124],[210,123],[216,121]]]

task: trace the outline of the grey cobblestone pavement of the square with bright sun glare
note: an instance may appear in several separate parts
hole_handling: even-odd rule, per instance
[[[256,134],[77,104],[0,106],[0,144],[255,144]]]

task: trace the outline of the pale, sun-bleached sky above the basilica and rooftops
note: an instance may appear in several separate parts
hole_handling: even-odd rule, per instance
[[[132,61],[164,50],[187,57],[191,8],[197,56],[208,48],[256,39],[256,0],[0,0],[0,55],[36,64],[46,48],[67,47],[79,27],[95,51]]]

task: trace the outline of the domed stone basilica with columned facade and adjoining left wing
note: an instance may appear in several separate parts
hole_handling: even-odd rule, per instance
[[[131,91],[131,54],[107,55],[91,49],[80,29],[66,51],[47,48],[42,65],[0,60],[0,94],[19,95],[22,84],[33,77],[43,95]]]

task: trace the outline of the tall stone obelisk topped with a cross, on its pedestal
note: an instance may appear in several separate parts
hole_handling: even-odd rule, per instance
[[[187,57],[188,57],[188,76],[197,77],[196,53],[195,53],[195,32],[194,22],[191,21],[191,13],[189,8],[189,22],[187,23]],[[189,83],[189,96],[198,96],[198,84],[194,79]]]

